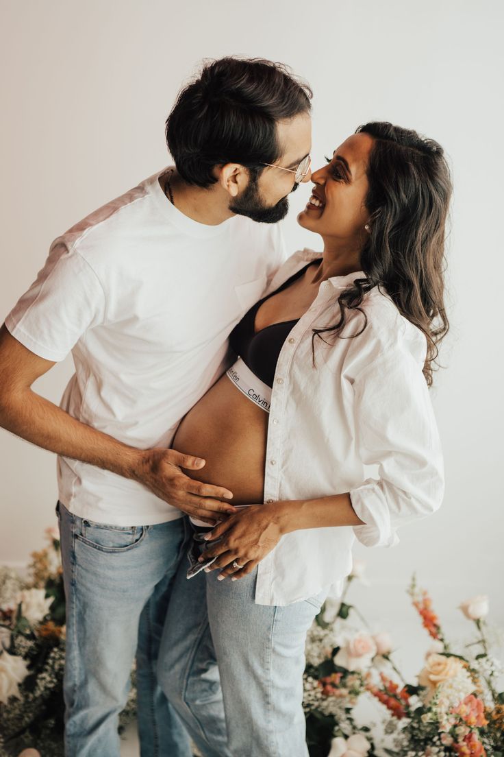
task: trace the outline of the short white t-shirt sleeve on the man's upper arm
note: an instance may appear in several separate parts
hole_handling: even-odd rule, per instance
[[[105,294],[96,273],[79,252],[57,239],[5,326],[30,351],[58,362],[87,329],[104,321],[104,313]]]

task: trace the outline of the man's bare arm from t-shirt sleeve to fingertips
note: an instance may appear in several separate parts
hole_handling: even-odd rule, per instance
[[[58,455],[109,470],[144,484],[157,497],[190,516],[215,522],[218,513],[236,512],[217,497],[227,489],[193,481],[182,468],[205,461],[175,450],[138,450],[82,423],[32,391],[32,383],[54,366],[32,353],[5,327],[0,329],[0,426]]]

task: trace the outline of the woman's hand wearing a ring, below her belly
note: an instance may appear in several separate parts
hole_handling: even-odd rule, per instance
[[[250,505],[243,507],[226,520],[219,523],[207,536],[209,547],[200,558],[200,562],[217,556],[206,571],[224,568],[219,581],[231,575],[243,578],[252,573],[256,565],[277,546],[283,536],[282,508],[280,503],[274,505]],[[220,539],[212,544],[215,539]],[[240,568],[234,568],[233,562]]]

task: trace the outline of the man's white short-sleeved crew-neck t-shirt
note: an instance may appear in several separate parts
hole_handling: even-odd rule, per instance
[[[133,447],[169,447],[181,418],[227,368],[227,336],[283,263],[278,224],[206,226],[172,206],[163,169],[54,240],[5,319],[36,355],[72,351],[60,407]],[[61,502],[112,525],[181,517],[141,484],[58,457]],[[218,481],[215,482],[218,484]]]

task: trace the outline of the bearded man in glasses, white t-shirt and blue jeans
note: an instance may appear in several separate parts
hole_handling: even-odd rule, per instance
[[[310,177],[310,98],[270,61],[206,65],[166,123],[175,168],[58,237],[0,330],[0,423],[58,454],[68,757],[119,755],[135,651],[142,755],[190,755],[156,680],[159,640],[184,512],[234,509],[181,470],[204,461],[169,446],[282,262],[276,222]],[[70,350],[58,408],[31,386]]]

